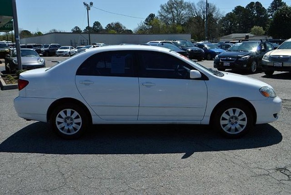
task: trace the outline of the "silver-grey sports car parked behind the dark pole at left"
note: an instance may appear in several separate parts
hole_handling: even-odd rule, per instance
[[[46,67],[45,60],[33,49],[20,49],[22,69],[30,70]],[[16,49],[12,49],[5,57],[5,72],[13,73],[18,70]]]

